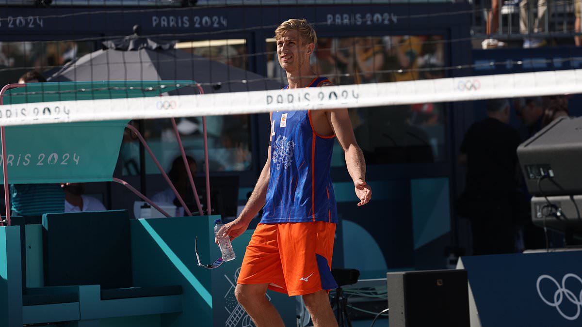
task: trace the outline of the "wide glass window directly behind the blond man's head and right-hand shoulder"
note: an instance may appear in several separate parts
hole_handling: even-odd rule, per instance
[[[445,77],[441,35],[390,35],[318,38],[311,66],[337,85]],[[285,81],[275,42],[267,40],[269,77]],[[348,109],[367,163],[442,161],[445,104],[413,104]],[[333,166],[345,165],[339,144]]]

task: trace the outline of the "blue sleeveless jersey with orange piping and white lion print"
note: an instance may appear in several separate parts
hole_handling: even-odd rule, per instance
[[[318,77],[309,87],[326,83]],[[315,133],[310,111],[273,112],[271,175],[261,223],[338,222],[329,177],[334,138]]]

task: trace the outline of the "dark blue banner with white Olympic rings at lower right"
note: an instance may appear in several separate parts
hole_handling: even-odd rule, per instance
[[[482,327],[582,326],[582,251],[463,257]]]

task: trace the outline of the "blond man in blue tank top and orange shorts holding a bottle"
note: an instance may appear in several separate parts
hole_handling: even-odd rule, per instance
[[[313,78],[309,65],[317,36],[306,20],[290,19],[275,30],[279,64],[289,85],[329,85]],[[253,194],[235,221],[223,228],[230,239],[240,236],[264,206],[261,223],[247,247],[237,280],[236,298],[257,327],[284,326],[267,289],[302,295],[315,326],[337,326],[328,290],[333,237],[337,223],[329,167],[334,136],[345,152],[357,205],[367,204],[365,162],[356,143],[347,109],[271,112],[268,160]]]

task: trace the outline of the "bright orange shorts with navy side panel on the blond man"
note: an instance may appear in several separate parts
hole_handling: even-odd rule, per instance
[[[331,275],[335,223],[260,223],[244,254],[238,284],[269,283],[289,296],[338,287]]]

